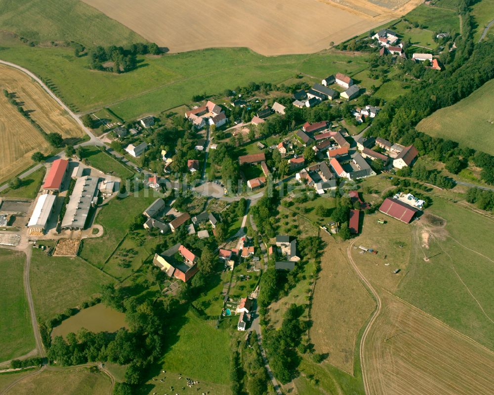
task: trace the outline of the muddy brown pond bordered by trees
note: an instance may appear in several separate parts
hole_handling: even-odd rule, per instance
[[[53,328],[51,336],[65,337],[71,332],[77,333],[81,328],[85,328],[88,331],[95,333],[113,333],[123,327],[128,328],[128,325],[125,322],[125,314],[99,303],[84,308],[76,315],[63,320],[60,325]]]

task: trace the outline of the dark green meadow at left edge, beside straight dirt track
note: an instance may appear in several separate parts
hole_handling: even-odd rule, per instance
[[[0,249],[0,362],[36,346],[22,277],[25,261],[22,253]]]

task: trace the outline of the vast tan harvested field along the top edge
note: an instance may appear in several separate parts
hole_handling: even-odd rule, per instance
[[[317,52],[404,15],[421,0],[83,0],[170,52],[246,46]],[[150,19],[150,15],[152,18]]]

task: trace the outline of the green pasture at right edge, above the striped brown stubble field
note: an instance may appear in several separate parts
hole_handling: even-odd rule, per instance
[[[492,219],[440,198],[427,211],[446,219],[446,232],[412,249],[397,295],[494,350]]]

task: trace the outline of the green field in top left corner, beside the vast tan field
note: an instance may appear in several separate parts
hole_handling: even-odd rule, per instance
[[[89,46],[146,42],[78,0],[1,1],[0,29],[34,41],[72,40]]]

